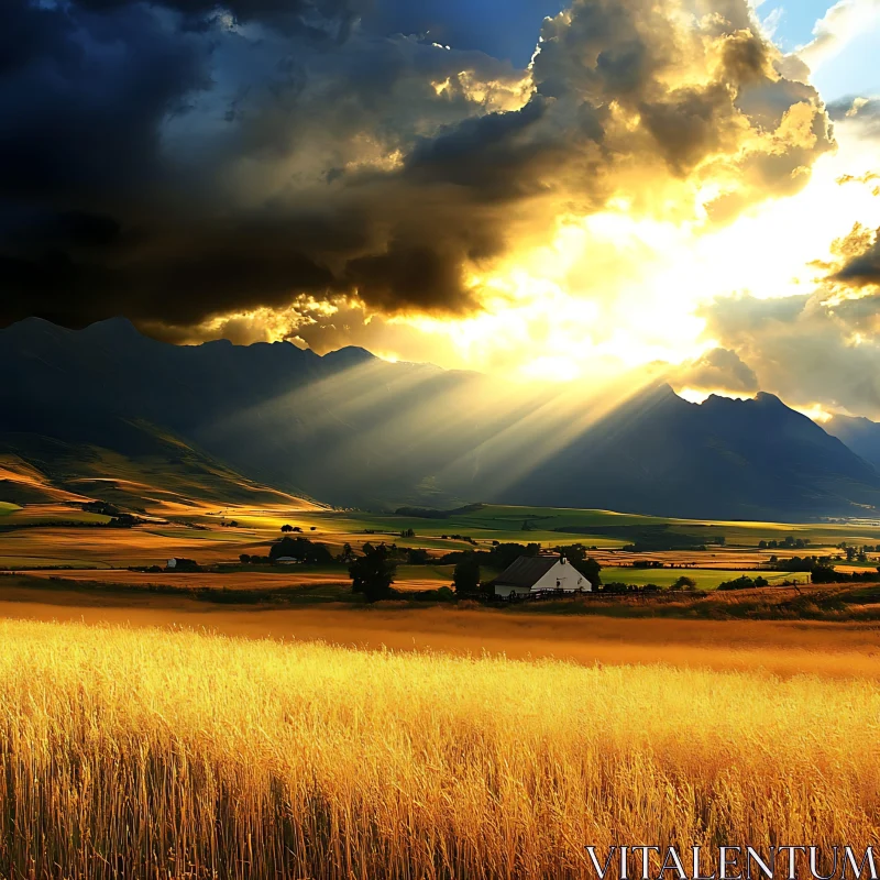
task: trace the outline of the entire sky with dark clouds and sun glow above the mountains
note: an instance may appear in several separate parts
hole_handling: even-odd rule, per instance
[[[0,326],[880,419],[880,0],[8,0]]]

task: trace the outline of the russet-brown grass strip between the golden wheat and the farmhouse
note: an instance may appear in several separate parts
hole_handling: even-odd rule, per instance
[[[880,586],[591,596],[481,606],[398,598],[366,605],[348,584],[157,588],[3,575],[0,617],[169,626],[395,650],[484,651],[578,662],[762,667],[780,674],[880,672]],[[624,646],[626,649],[624,650]],[[799,652],[804,651],[803,656]]]

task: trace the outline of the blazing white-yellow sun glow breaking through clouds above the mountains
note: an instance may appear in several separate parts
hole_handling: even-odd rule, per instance
[[[816,261],[854,219],[880,224],[871,187],[839,183],[876,165],[838,125],[837,152],[817,161],[795,196],[761,202],[726,226],[642,217],[612,200],[591,217],[557,218],[551,243],[473,276],[482,311],[396,321],[448,338],[457,355],[450,365],[526,378],[607,378],[658,361],[680,364],[715,345],[704,336],[702,305],[811,293],[823,274]],[[704,188],[700,198],[712,195]]]

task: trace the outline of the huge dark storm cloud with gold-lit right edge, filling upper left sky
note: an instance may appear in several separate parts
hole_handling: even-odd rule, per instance
[[[622,187],[717,156],[733,216],[802,185],[831,146],[818,96],[746,0],[701,0],[688,31],[679,6],[576,0],[529,95],[483,53],[360,28],[360,0],[231,0],[241,26],[207,0],[11,0],[0,323],[182,327],[301,294],[462,312],[474,268]]]

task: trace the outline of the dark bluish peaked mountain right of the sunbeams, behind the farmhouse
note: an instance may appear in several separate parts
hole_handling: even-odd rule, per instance
[[[871,465],[779,398],[689,404],[668,386],[635,397],[497,501],[719,518],[864,515]]]

